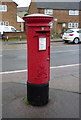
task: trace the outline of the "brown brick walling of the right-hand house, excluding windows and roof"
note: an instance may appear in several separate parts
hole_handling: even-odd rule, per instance
[[[34,13],[44,14],[44,9],[42,9],[42,8],[37,9],[36,3],[31,2],[28,13],[29,14],[34,14]],[[63,31],[62,24],[64,22],[66,23],[65,30],[68,28],[68,23],[80,23],[79,27],[81,27],[81,22],[80,22],[81,11],[80,11],[80,15],[73,16],[73,15],[69,15],[69,10],[54,9],[52,16],[53,16],[53,20],[52,20],[53,27],[51,28],[51,34],[54,33],[54,27],[55,27],[54,18],[58,19],[58,21],[56,22],[56,32],[57,33],[61,33]]]

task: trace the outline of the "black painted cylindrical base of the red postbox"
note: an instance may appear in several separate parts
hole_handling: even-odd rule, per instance
[[[49,83],[40,85],[27,82],[27,100],[35,106],[47,104],[49,101]]]

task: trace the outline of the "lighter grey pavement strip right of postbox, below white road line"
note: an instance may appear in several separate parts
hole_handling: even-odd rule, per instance
[[[51,69],[51,88],[81,93],[79,82],[79,65]]]

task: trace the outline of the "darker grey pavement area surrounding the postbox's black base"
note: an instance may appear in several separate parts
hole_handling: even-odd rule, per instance
[[[37,107],[25,104],[26,86],[3,84],[3,118],[79,118],[79,94],[50,88],[49,103]]]

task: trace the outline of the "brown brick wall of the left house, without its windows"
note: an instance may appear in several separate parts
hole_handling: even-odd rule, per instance
[[[20,23],[17,23],[17,4],[15,2],[0,2],[0,4],[7,5],[7,11],[0,12],[0,21],[8,21],[10,26],[20,30]]]

